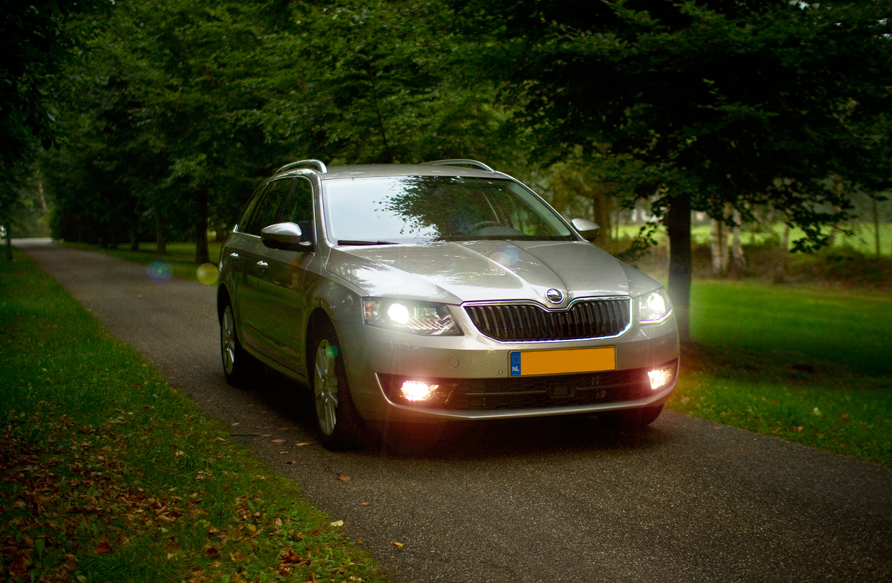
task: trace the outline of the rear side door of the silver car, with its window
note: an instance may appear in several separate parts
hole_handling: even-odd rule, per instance
[[[274,343],[270,340],[270,327],[275,326],[275,316],[264,306],[264,296],[268,295],[268,269],[270,254],[260,241],[260,230],[277,222],[282,203],[288,198],[294,184],[293,178],[283,178],[269,183],[260,198],[251,220],[245,227],[244,241],[240,245],[239,262],[243,274],[237,290],[239,324],[242,326],[244,341],[253,349],[267,357],[277,358]]]

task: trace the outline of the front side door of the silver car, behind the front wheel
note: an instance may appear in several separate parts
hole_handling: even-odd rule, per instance
[[[297,177],[277,222],[301,227],[301,242],[315,242],[313,190],[310,180]],[[315,251],[267,250],[267,277],[260,286],[260,310],[270,346],[277,361],[302,374],[305,360],[307,308],[312,289],[318,282],[313,267]],[[318,272],[318,269],[316,270]]]

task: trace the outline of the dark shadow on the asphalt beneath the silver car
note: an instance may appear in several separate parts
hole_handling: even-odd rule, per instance
[[[310,390],[299,382],[267,370],[254,390],[260,403],[318,437]],[[598,415],[558,415],[495,421],[368,426],[359,448],[371,456],[421,459],[479,459],[504,456],[549,455],[592,450],[601,453],[665,448],[672,431],[657,426],[640,430],[618,428]],[[358,452],[358,453],[359,453]]]

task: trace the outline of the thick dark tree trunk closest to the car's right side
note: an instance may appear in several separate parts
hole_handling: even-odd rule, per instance
[[[690,194],[679,193],[672,199],[666,215],[669,233],[669,297],[679,340],[690,342],[690,280],[693,267],[690,254]]]

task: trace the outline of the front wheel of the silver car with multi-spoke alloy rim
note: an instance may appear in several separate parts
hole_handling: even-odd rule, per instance
[[[313,336],[312,389],[322,445],[334,451],[354,448],[359,443],[362,422],[353,406],[337,334],[326,324]]]

